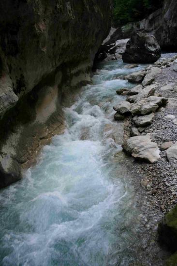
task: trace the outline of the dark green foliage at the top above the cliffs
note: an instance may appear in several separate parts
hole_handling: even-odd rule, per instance
[[[114,0],[114,24],[121,26],[145,18],[162,6],[163,0]]]

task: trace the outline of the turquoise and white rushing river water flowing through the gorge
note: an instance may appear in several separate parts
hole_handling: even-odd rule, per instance
[[[0,191],[0,265],[128,266],[138,259],[134,186],[111,136],[122,75],[143,68],[105,62],[65,108],[67,129],[40,163]]]

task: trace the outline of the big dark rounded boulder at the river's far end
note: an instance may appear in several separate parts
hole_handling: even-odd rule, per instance
[[[125,63],[154,63],[160,57],[161,48],[156,38],[143,31],[132,34],[122,55]]]

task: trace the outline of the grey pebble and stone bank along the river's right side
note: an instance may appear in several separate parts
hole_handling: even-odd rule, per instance
[[[145,193],[145,200],[141,208],[146,215],[144,218],[142,217],[142,222],[147,229],[151,228],[152,234],[154,234],[154,237],[158,240],[157,228],[159,223],[162,222],[164,215],[177,204],[177,159],[173,158],[176,157],[176,147],[172,150],[172,156],[170,157],[170,155],[168,155],[170,149],[172,149],[169,147],[173,146],[177,141],[177,56],[171,54],[169,58],[163,58],[157,61],[155,65],[150,68],[154,69],[156,66],[159,71],[155,74],[153,79],[151,79],[150,84],[146,87],[138,85],[139,88],[135,86],[134,91],[136,91],[136,93],[133,93],[134,95],[130,96],[130,91],[133,91],[133,89],[126,90],[126,88],[122,88],[122,90],[120,89],[117,91],[118,94],[129,94],[127,99],[129,102],[130,97],[138,99],[135,101],[137,103],[140,101],[146,102],[148,98],[153,97],[165,99],[165,104],[163,104],[163,106],[158,106],[155,111],[151,113],[148,111],[148,114],[153,114],[150,121],[148,121],[147,124],[145,123],[143,127],[138,127],[137,119],[142,117],[144,122],[146,122],[145,117],[150,115],[145,114],[142,116],[143,114],[138,113],[138,117],[135,117],[134,114],[132,116],[130,110],[132,110],[132,106],[137,103],[129,104],[127,101],[128,105],[126,105],[125,101],[123,101],[117,107],[114,107],[114,109],[118,111],[115,115],[116,120],[122,120],[124,118],[124,150],[129,154],[134,152],[134,148],[136,150],[133,154],[135,160],[131,160],[131,163],[128,163],[127,167],[135,177],[138,178],[139,184],[144,191],[143,193]],[[148,67],[147,69],[149,70],[150,68]],[[136,79],[137,73],[131,74],[131,77]],[[136,83],[140,84],[142,80],[143,78],[141,77],[138,82],[136,80]],[[147,89],[150,94],[144,94],[144,98],[141,100],[141,97],[138,98],[138,94],[142,96],[142,90],[145,89]],[[143,106],[144,104],[145,103],[143,103]],[[118,115],[123,116],[123,118],[119,118]],[[131,145],[133,144],[130,145],[129,143],[129,148],[125,147],[128,140],[138,139],[139,137],[140,141],[138,141],[138,144],[140,146],[135,143],[134,147],[132,147]],[[144,158],[141,158],[141,149],[143,152],[147,151],[146,148],[144,149],[141,147],[144,144],[143,138],[150,139],[148,143],[148,160],[146,158],[146,152],[146,154],[143,154]],[[151,144],[153,147],[151,147]],[[140,151],[141,153],[140,156],[137,156],[138,148],[140,149],[138,150],[138,152]],[[152,151],[153,148],[156,149],[159,156],[157,153],[156,156],[154,155],[154,151]],[[149,163],[149,156],[155,156],[154,162]],[[142,160],[136,160],[137,158]],[[148,163],[145,161],[148,161]],[[163,231],[160,232],[162,235],[163,233]],[[171,249],[171,247],[168,248]]]

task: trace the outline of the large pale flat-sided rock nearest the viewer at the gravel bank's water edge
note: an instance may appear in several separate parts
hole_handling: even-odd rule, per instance
[[[151,141],[149,135],[129,138],[123,149],[135,159],[149,163],[155,163],[161,158],[157,144]]]

